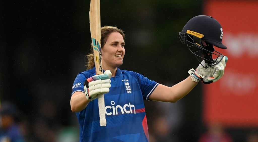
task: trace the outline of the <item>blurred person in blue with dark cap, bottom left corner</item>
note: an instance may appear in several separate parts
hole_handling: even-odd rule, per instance
[[[18,110],[11,102],[4,102],[0,108],[0,142],[24,142],[22,131],[17,124]]]

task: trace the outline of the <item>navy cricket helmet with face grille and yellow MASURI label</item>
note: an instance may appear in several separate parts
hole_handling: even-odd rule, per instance
[[[183,44],[187,44],[188,49],[195,54],[200,63],[202,59],[205,60],[207,65],[201,65],[206,68],[217,65],[220,62],[217,59],[224,57],[214,49],[213,45],[221,49],[227,49],[221,43],[223,38],[222,27],[211,16],[199,15],[193,17],[179,33],[179,38]],[[212,55],[216,56],[215,60],[213,60]]]

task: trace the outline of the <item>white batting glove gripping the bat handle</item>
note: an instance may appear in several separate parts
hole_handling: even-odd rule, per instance
[[[94,75],[86,79],[84,82],[84,94],[86,98],[92,101],[98,97],[97,94],[108,93],[111,87],[111,76],[110,70],[106,70],[104,74]]]

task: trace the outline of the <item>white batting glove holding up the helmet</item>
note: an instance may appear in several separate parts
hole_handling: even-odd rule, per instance
[[[215,59],[213,60],[215,61]],[[192,81],[199,82],[200,80],[202,80],[204,84],[218,81],[224,74],[224,69],[226,67],[228,57],[219,57],[217,61],[220,61],[219,64],[204,68],[203,66],[206,66],[207,63],[205,63],[205,61],[203,60],[196,70],[190,69],[188,73],[191,75]]]

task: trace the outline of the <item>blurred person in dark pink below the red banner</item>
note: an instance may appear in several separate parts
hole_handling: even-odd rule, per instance
[[[232,142],[232,137],[224,131],[221,123],[214,122],[208,126],[208,132],[203,134],[199,142]]]

